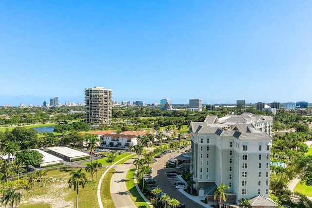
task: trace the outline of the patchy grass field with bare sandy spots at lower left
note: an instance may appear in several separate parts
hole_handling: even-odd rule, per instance
[[[52,170],[48,172],[47,180],[43,178],[41,182],[36,182],[35,187],[28,192],[23,192],[19,208],[74,208],[76,207],[76,191],[68,189],[68,179],[72,170]],[[83,170],[85,172],[85,170]],[[98,179],[104,170],[98,172]],[[85,172],[86,173],[86,172]],[[90,180],[90,174],[86,173]],[[85,185],[84,189],[79,189],[79,207],[98,208],[97,189],[98,180]]]

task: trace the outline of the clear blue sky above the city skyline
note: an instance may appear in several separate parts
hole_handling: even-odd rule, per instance
[[[312,1],[0,1],[0,105],[312,102]]]

